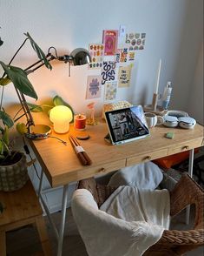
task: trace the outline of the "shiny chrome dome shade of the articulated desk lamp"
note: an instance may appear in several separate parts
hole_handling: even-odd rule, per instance
[[[83,48],[76,48],[71,52],[70,56],[73,58],[72,62],[75,66],[89,64],[91,62],[89,51]]]

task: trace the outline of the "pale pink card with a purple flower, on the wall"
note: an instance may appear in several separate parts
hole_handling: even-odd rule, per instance
[[[100,98],[102,95],[102,76],[87,77],[86,98]]]

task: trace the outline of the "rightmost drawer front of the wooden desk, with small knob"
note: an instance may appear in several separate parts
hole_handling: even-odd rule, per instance
[[[174,146],[172,148],[168,148],[168,155],[173,155],[179,152],[186,152],[196,147],[200,147],[202,145],[202,139],[196,139],[192,142],[182,143],[181,145]]]

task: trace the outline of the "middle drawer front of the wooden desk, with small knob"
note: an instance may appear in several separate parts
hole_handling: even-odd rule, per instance
[[[146,154],[137,155],[135,157],[128,158],[126,165],[131,166],[131,165],[139,164],[139,163],[142,163],[142,162],[148,162],[148,161],[154,160],[156,158],[166,157],[167,152],[168,152],[167,149],[162,149],[162,150],[157,151],[157,152],[149,152],[149,153],[146,153]]]

